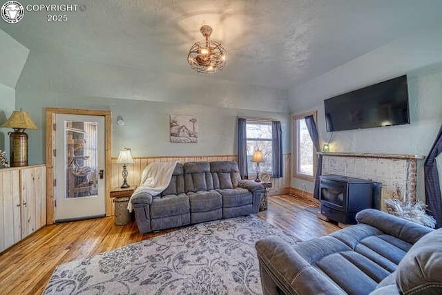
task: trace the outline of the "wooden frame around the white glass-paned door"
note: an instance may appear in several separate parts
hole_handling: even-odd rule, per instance
[[[55,115],[93,115],[104,117],[104,142],[106,153],[106,216],[112,214],[112,203],[109,197],[111,193],[112,177],[112,115],[111,111],[83,110],[77,108],[46,108],[46,222],[52,225],[55,222],[54,215],[54,139],[55,139]]]

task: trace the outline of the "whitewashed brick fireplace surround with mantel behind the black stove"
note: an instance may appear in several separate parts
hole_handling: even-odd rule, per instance
[[[323,155],[323,175],[338,174],[381,182],[381,209],[386,198],[416,200],[416,179],[419,160],[423,155],[393,155],[381,153],[320,153]]]

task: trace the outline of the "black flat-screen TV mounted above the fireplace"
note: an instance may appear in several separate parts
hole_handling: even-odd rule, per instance
[[[410,124],[407,75],[324,100],[327,132]]]

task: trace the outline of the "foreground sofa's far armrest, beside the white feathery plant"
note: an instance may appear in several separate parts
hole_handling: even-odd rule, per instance
[[[424,227],[417,223],[392,216],[391,214],[376,209],[365,209],[356,214],[358,223],[365,223],[383,231],[385,234],[394,236],[401,240],[405,240],[414,244],[425,234],[430,233],[433,229]]]

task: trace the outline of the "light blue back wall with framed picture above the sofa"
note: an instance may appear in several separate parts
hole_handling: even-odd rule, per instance
[[[31,164],[45,162],[46,107],[110,110],[114,156],[124,146],[134,156],[234,154],[237,116],[280,120],[284,135],[289,126],[287,91],[35,52],[17,84],[16,106],[28,111],[40,127],[28,132]],[[119,115],[124,126],[116,124]],[[172,144],[169,115],[198,117],[198,143]],[[283,140],[283,150],[289,153],[289,137]]]

